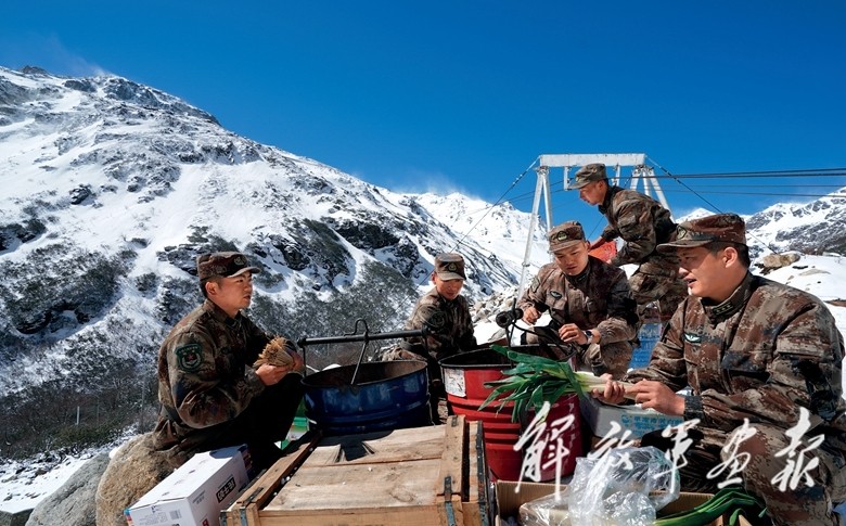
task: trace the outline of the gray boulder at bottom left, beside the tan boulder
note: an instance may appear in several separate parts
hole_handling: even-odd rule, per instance
[[[86,462],[62,487],[38,503],[26,526],[95,526],[94,493],[107,464],[108,453]]]

